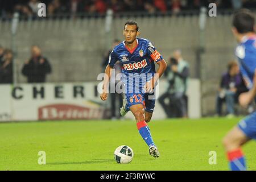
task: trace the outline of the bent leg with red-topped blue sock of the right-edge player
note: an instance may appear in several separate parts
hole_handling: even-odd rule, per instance
[[[248,142],[250,138],[236,126],[224,137],[222,143],[225,147],[228,159],[230,161],[230,167],[238,170],[246,170],[244,157],[241,147]],[[233,166],[232,166],[233,165]]]

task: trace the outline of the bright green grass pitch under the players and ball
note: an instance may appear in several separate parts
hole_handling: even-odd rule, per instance
[[[149,124],[160,158],[148,154],[135,121],[48,121],[0,124],[0,170],[228,170],[222,137],[239,118],[174,119]],[[122,144],[133,148],[130,164],[114,161]],[[46,152],[46,165],[38,152]],[[210,165],[209,151],[217,152]],[[243,147],[256,169],[256,142]]]

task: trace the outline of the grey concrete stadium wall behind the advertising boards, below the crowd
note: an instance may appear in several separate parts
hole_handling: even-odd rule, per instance
[[[199,30],[199,16],[161,16],[114,18],[112,32],[105,33],[104,18],[34,20],[19,23],[15,36],[16,65],[18,81],[26,82],[21,75],[24,61],[30,57],[30,46],[38,44],[43,55],[51,61],[53,72],[48,82],[94,81],[101,67],[102,56],[111,39],[122,40],[123,23],[135,19],[139,23],[141,37],[150,39],[154,46],[168,60],[172,51],[181,49],[184,59],[190,64],[191,77],[198,75],[200,35],[203,34],[205,51],[201,54],[201,102],[203,115],[215,111],[215,97],[221,74],[226,64],[234,59],[234,47],[230,15],[217,15],[207,19],[205,32]],[[11,23],[0,22],[1,41],[11,48]],[[106,37],[108,36],[108,38]],[[93,72],[92,72],[93,70]]]

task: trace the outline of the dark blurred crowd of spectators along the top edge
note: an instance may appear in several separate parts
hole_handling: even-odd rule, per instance
[[[256,7],[256,0],[1,0],[0,17],[11,18],[15,11],[23,16],[36,16],[38,3],[47,7],[47,16],[60,14],[102,14],[112,9],[114,13],[179,13],[183,10],[198,10],[201,6],[216,3],[218,9]]]

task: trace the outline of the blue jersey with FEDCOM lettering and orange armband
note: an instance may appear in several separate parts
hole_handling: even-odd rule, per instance
[[[137,38],[137,46],[129,49],[125,41],[113,48],[109,56],[109,65],[114,67],[117,61],[122,64],[122,80],[125,89],[129,89],[129,93],[139,89],[141,92],[145,81],[154,76],[155,63],[163,59],[162,55],[152,43],[147,39]],[[140,78],[140,79],[138,79]],[[128,90],[126,90],[127,93]]]

